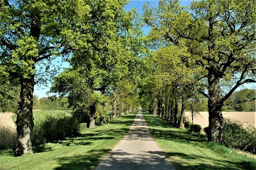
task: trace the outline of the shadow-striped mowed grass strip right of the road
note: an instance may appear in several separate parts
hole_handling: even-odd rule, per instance
[[[205,137],[172,128],[166,121],[143,112],[159,147],[177,169],[256,169],[256,160],[236,151],[208,143]]]

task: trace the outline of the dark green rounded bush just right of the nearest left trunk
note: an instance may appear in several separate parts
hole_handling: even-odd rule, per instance
[[[43,144],[47,142],[56,142],[65,137],[77,135],[79,123],[76,118],[58,114],[58,116],[46,116],[42,123],[35,125],[33,130],[33,144]]]

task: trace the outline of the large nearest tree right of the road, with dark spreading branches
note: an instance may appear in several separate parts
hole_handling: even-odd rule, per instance
[[[253,0],[193,1],[189,9],[179,1],[159,1],[158,9],[145,8],[152,34],[174,45],[185,40],[196,65],[205,69],[199,91],[208,98],[209,141],[223,141],[224,102],[239,86],[256,82],[255,12]]]

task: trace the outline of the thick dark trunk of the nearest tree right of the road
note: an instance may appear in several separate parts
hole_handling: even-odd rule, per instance
[[[220,104],[220,82],[219,79],[214,77],[214,73],[209,73],[209,141],[215,143],[223,143],[223,116],[221,113],[222,105]]]

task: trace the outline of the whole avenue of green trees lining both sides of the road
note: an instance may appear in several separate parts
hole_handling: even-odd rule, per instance
[[[50,75],[51,92],[88,128],[106,122],[108,105],[115,118],[139,102],[183,128],[184,110],[206,100],[209,141],[222,143],[223,106],[255,100],[250,89],[232,97],[256,82],[255,0],[160,0],[143,16],[126,12],[128,3],[0,0],[0,101],[20,93],[16,156],[33,152],[34,86]],[[70,63],[58,75],[56,57]]]

